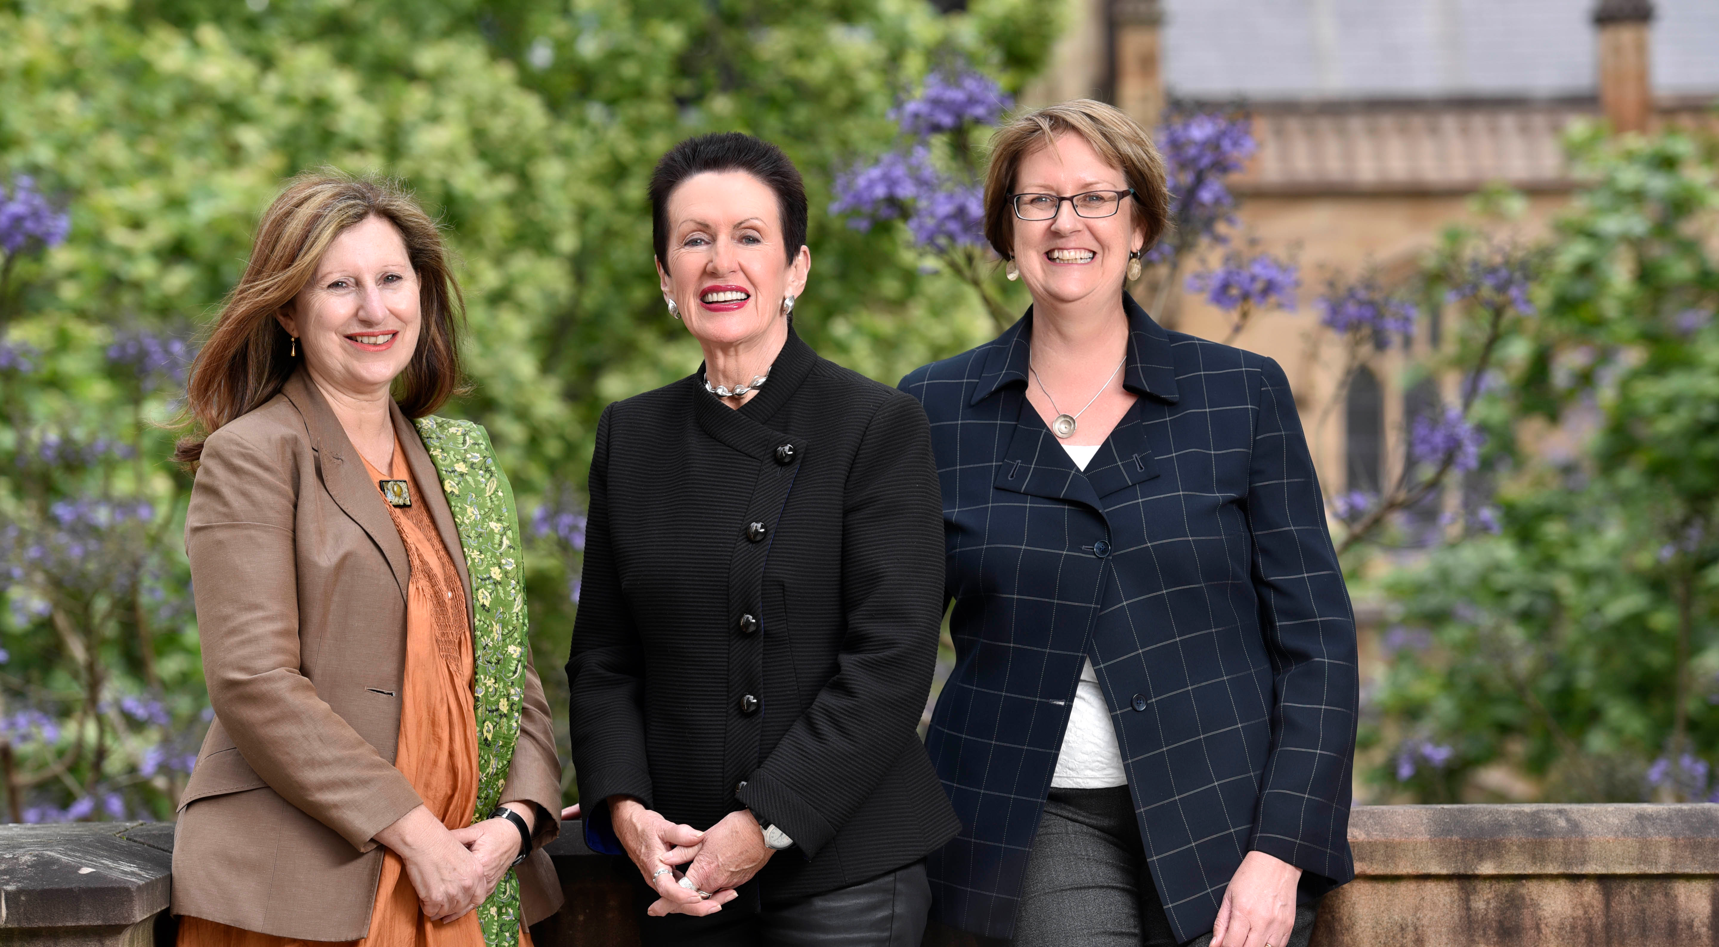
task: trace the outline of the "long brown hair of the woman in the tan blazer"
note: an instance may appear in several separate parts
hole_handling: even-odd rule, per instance
[[[191,366],[186,419],[174,459],[194,466],[203,438],[256,411],[297,368],[291,337],[275,315],[309,282],[328,244],[371,217],[394,223],[418,272],[423,330],[413,361],[394,380],[394,400],[423,418],[461,392],[459,328],[466,301],[449,263],[442,230],[406,189],[388,179],[318,170],[294,177],[268,205],[244,275],[222,306],[208,342]]]

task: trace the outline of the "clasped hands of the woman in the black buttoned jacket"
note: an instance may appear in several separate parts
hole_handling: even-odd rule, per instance
[[[569,818],[567,813],[562,818]],[[655,918],[715,914],[739,897],[734,889],[749,882],[775,854],[763,844],[763,828],[749,810],[732,811],[703,832],[676,825],[631,796],[612,796],[609,815],[621,847],[660,895],[648,911]],[[691,887],[682,885],[682,878]]]

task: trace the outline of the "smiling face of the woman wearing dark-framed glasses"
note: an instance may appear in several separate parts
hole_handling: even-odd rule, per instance
[[[1049,146],[1021,158],[1011,192],[1061,194],[1126,191],[1123,168],[1104,163],[1078,134],[1061,134]],[[1011,208],[1009,213],[1014,213]],[[1112,217],[1078,217],[1069,201],[1057,205],[1054,220],[1014,223],[1014,261],[1035,301],[1110,301],[1123,289],[1128,254],[1145,242],[1138,208],[1124,198]]]

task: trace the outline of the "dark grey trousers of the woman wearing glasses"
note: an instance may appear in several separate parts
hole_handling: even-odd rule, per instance
[[[1313,906],[1294,913],[1289,944],[1313,937]],[[1207,947],[1207,932],[1190,944]],[[1026,858],[1014,947],[1176,947],[1169,916],[1152,885],[1145,846],[1126,785],[1052,789]]]

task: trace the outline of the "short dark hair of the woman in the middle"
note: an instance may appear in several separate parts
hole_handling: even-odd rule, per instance
[[[806,246],[806,184],[780,148],[743,132],[712,132],[676,144],[650,175],[650,239],[657,260],[669,256],[669,194],[694,174],[746,172],[775,191],[782,242],[792,263]]]

